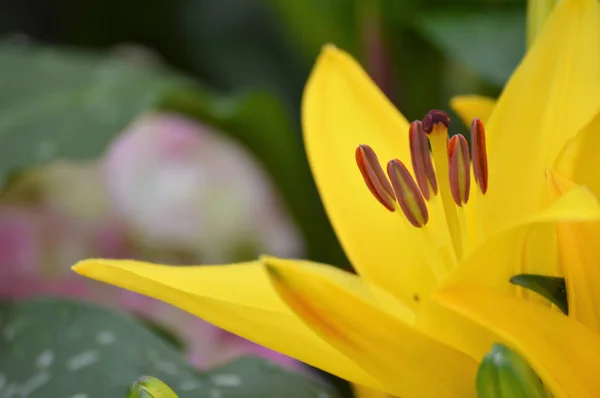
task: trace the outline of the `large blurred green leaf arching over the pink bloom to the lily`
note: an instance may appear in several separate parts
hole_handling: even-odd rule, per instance
[[[136,116],[169,109],[233,135],[264,163],[312,258],[343,264],[300,134],[267,92],[224,96],[164,68],[104,53],[0,45],[0,186],[11,172],[100,155]]]

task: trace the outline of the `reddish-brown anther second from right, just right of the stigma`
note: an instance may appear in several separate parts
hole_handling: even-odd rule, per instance
[[[453,136],[448,142],[448,152],[450,191],[454,203],[462,207],[469,201],[471,185],[469,145],[465,137],[460,134]]]

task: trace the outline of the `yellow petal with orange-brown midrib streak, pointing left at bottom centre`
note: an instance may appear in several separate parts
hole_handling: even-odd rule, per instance
[[[288,305],[386,391],[406,398],[472,394],[476,362],[408,324],[406,310],[391,304],[394,299],[385,291],[333,267],[272,258],[266,262]]]

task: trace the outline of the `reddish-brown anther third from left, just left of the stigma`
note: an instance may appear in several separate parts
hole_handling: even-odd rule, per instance
[[[417,184],[419,184],[419,188],[425,199],[429,200],[432,196],[431,191],[433,191],[433,195],[437,195],[438,187],[431,153],[429,152],[427,135],[423,130],[421,121],[416,120],[411,123],[408,131],[408,139],[410,157]]]

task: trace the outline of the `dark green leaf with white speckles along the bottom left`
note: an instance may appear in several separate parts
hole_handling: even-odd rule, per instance
[[[0,311],[0,396],[125,397],[141,375],[181,398],[332,396],[258,358],[199,374],[133,317],[90,304],[38,299]]]

